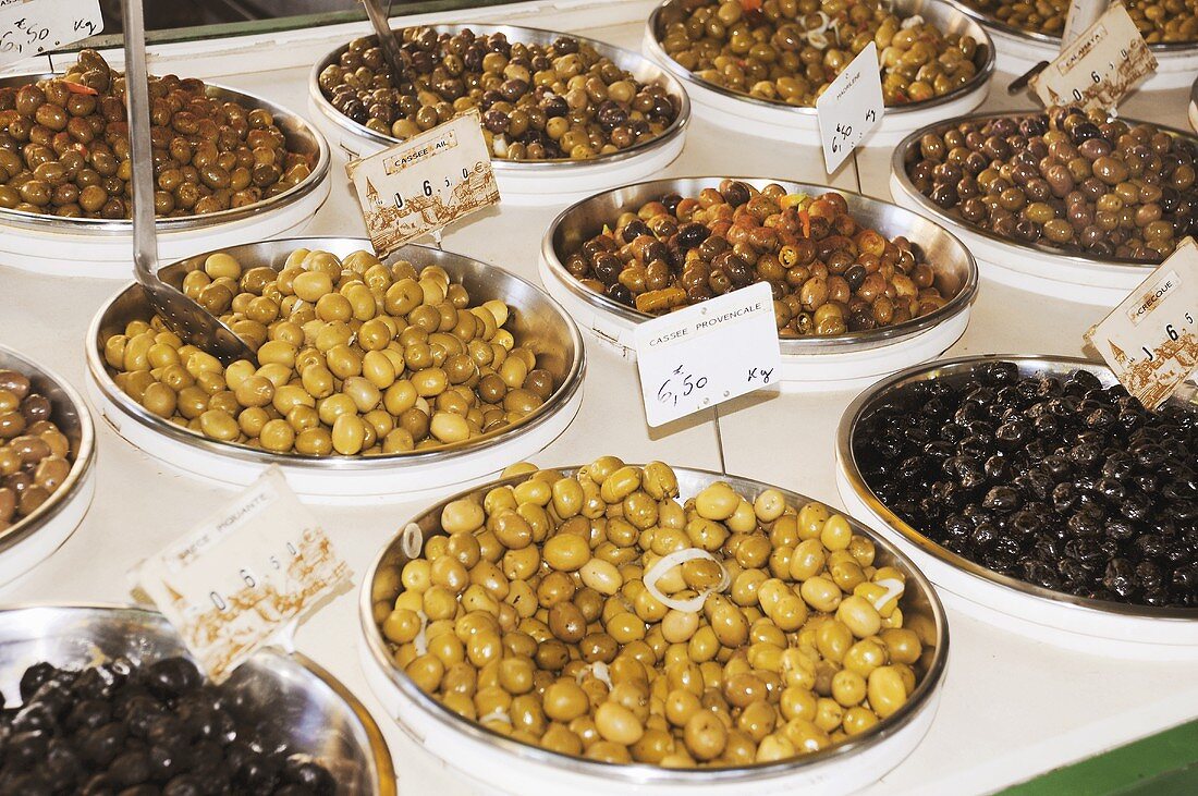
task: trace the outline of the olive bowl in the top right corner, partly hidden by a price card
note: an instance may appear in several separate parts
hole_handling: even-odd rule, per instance
[[[949,0],[981,23],[994,38],[1000,72],[1023,74],[1060,51],[1069,0]],[[1124,7],[1156,57],[1156,72],[1140,84],[1181,89],[1198,69],[1196,0],[1124,0]]]

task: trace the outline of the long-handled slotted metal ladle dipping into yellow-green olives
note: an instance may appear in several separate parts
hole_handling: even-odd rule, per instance
[[[125,102],[129,117],[132,166],[133,275],[146,300],[167,327],[224,364],[237,359],[258,363],[249,346],[232,329],[195,300],[158,278],[158,235],[153,212],[153,156],[150,148],[150,75],[143,0],[121,0],[125,12]]]

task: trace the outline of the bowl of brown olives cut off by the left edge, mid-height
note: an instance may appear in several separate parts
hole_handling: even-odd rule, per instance
[[[53,371],[0,346],[0,584],[74,531],[96,491],[91,415]]]

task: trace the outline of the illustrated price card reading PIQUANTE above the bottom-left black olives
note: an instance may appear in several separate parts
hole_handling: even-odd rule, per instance
[[[220,682],[350,579],[277,467],[131,573]]]

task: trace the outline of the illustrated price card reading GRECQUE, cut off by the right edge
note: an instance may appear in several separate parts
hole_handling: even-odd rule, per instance
[[[1198,369],[1198,245],[1181,242],[1085,339],[1127,391],[1155,409]]]

